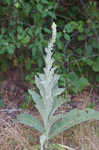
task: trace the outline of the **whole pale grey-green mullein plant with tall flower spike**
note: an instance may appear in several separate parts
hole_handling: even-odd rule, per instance
[[[53,46],[56,41],[56,24],[52,24],[52,38],[45,48],[45,67],[44,73],[39,73],[35,77],[35,83],[39,93],[29,89],[29,93],[35,102],[42,121],[30,114],[19,114],[17,119],[20,123],[29,125],[37,129],[40,133],[40,150],[48,149],[48,142],[57,134],[67,130],[81,122],[91,119],[99,120],[99,112],[86,108],[85,110],[74,109],[68,113],[56,114],[58,108],[68,100],[62,97],[64,88],[58,87],[60,76],[55,73],[53,67]],[[60,96],[61,95],[61,96]]]

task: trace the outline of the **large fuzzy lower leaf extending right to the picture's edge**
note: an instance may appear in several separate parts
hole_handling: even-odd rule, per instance
[[[89,120],[99,120],[99,112],[90,108],[85,110],[74,109],[69,113],[66,113],[61,120],[55,123],[51,130],[50,138],[56,136],[64,130]]]

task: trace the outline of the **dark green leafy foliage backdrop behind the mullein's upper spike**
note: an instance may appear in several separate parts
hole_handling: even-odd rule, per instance
[[[99,2],[93,0],[0,1],[0,72],[20,68],[34,83],[43,67],[44,48],[58,28],[55,64],[60,86],[80,92],[99,83]]]

